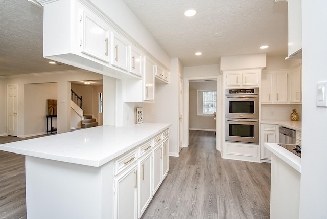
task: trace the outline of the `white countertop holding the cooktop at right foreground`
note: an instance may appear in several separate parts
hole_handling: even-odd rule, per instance
[[[265,143],[265,147],[278,158],[282,159],[299,173],[301,173],[301,158],[299,156],[294,155],[291,151],[288,151],[276,143]]]

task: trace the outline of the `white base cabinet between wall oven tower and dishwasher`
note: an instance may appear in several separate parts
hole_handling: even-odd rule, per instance
[[[279,133],[278,125],[275,124],[262,124],[261,125],[261,159],[271,160],[271,152],[265,148],[264,143],[278,143],[279,142]]]

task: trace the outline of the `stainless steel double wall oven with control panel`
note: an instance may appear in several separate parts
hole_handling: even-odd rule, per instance
[[[259,87],[225,90],[225,141],[259,143]]]

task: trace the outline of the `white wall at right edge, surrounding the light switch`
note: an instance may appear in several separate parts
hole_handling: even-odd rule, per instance
[[[316,106],[327,81],[327,1],[302,0],[303,101],[300,218],[327,217],[327,108]]]

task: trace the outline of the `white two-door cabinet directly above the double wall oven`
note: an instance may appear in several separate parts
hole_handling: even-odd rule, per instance
[[[227,71],[225,84],[227,87],[258,86],[260,81],[260,70]]]

